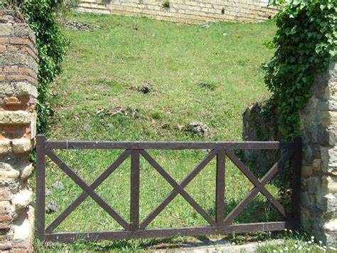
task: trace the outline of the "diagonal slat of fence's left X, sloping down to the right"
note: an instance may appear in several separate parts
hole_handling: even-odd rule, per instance
[[[82,178],[80,178],[75,172],[73,172],[73,170],[71,170],[70,167],[66,165],[65,162],[63,162],[63,160],[61,160],[58,157],[58,155],[53,153],[53,151],[51,150],[47,150],[46,154],[51,160],[53,160],[53,162],[56,163],[56,165],[58,165],[58,167],[60,167],[63,170],[63,172],[65,172],[65,174],[67,174],[78,186],[80,186],[82,190],[87,192],[87,194],[90,195],[90,197],[92,197],[92,200],[95,200],[95,202],[97,202],[97,204],[100,205],[100,207],[102,207],[105,210],[105,212],[107,212],[111,217],[113,217],[114,220],[116,220],[122,227],[124,227],[124,229],[127,230],[129,229],[129,223],[126,220],[124,220],[119,214],[117,214],[117,212],[114,211],[112,207],[110,207],[109,204],[105,202],[105,200],[102,200],[102,198],[99,195],[97,195],[97,193],[94,190],[92,190],[92,188],[89,185],[87,185],[82,180]]]

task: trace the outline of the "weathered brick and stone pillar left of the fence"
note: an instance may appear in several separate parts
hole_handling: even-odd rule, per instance
[[[0,250],[30,251],[37,51],[21,14],[0,12]]]

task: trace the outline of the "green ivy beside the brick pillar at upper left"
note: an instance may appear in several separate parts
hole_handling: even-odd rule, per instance
[[[53,109],[48,103],[49,85],[60,73],[60,63],[68,50],[68,40],[58,26],[58,12],[75,4],[74,0],[3,0],[2,8],[23,14],[36,35],[38,50],[38,133],[46,133]]]

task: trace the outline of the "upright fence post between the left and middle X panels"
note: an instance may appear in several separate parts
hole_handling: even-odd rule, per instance
[[[131,153],[130,229],[139,229],[139,150]]]

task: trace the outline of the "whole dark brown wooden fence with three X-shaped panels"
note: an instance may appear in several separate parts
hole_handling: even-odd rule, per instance
[[[82,180],[53,150],[66,149],[121,149],[122,155],[110,165],[91,185]],[[176,182],[146,150],[210,150],[210,153],[194,168],[194,170],[180,183]],[[284,155],[267,172],[261,180],[250,172],[232,150],[259,149],[259,150],[285,150]],[[228,234],[242,232],[277,231],[296,229],[299,227],[299,191],[301,185],[301,138],[294,142],[101,142],[101,141],[50,141],[44,135],[37,137],[37,180],[36,180],[36,229],[41,240],[54,242],[70,242],[75,239],[102,240],[102,239],[135,239],[151,237],[173,237],[176,235],[205,235]],[[82,194],[46,227],[46,156],[53,160],[66,175],[68,175],[83,190]],[[95,189],[117,169],[122,162],[131,156],[131,205],[130,220],[124,220],[105,200],[97,195]],[[173,190],[144,220],[139,220],[139,157],[145,158],[164,179],[169,182]],[[229,215],[225,216],[225,160],[229,158],[241,172],[252,182],[253,189],[247,194]],[[203,210],[191,195],[184,190],[191,180],[203,170],[203,167],[216,158],[216,200],[215,219]],[[292,210],[287,212],[279,201],[264,187],[290,159],[292,167]],[[284,217],[284,222],[260,222],[250,224],[232,224],[232,221],[248,205],[253,198],[261,192],[267,200],[277,208]],[[177,227],[146,229],[146,227],[169,205],[176,197],[181,195],[194,209],[210,224],[208,227]],[[114,218],[123,230],[102,232],[53,232],[58,225],[70,215],[75,208],[87,197],[91,197],[111,217]]]

